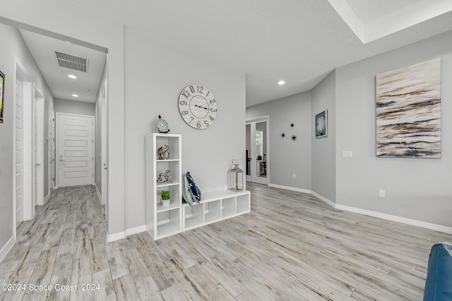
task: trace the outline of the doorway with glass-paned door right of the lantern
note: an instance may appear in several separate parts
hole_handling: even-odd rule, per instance
[[[246,180],[268,185],[270,156],[268,116],[246,121]]]

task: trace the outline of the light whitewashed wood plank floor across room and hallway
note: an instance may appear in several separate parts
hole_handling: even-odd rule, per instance
[[[109,243],[95,188],[56,190],[0,264],[0,283],[25,290],[0,290],[0,300],[422,300],[430,247],[452,240],[304,193],[247,188],[250,214]]]

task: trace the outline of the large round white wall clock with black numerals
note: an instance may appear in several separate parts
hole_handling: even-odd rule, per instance
[[[179,113],[186,124],[203,130],[217,118],[217,101],[203,85],[189,85],[179,95]]]

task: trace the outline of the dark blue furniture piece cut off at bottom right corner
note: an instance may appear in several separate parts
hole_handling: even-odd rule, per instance
[[[450,244],[433,245],[425,280],[424,301],[452,300],[452,254],[449,252],[452,252]]]

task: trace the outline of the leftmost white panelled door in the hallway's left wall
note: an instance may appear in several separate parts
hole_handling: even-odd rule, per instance
[[[16,226],[23,222],[23,84],[16,81]]]

